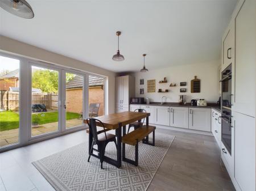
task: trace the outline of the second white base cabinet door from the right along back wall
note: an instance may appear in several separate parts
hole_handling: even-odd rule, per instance
[[[188,107],[170,107],[170,126],[188,129]]]

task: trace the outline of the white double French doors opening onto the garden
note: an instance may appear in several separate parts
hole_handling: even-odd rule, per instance
[[[29,139],[84,126],[86,74],[30,63]]]

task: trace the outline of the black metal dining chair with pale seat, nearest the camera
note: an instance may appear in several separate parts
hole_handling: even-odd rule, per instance
[[[97,151],[100,154],[100,162],[101,162],[101,168],[102,168],[106,146],[108,145],[109,142],[114,142],[115,147],[117,147],[117,140],[115,139],[114,134],[106,133],[108,129],[105,129],[104,124],[100,120],[97,120],[96,118],[86,118],[86,121],[89,126],[90,133],[92,133],[92,136],[93,136],[93,142],[92,142],[92,147],[90,148],[88,162],[90,161],[90,155],[92,155],[94,150],[93,146],[97,145],[98,146]],[[101,131],[102,133],[100,134],[98,134],[97,132],[96,121],[100,122],[102,128],[104,129],[103,131]]]

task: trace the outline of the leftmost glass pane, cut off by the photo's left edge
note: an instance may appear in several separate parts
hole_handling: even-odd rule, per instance
[[[19,60],[0,56],[0,147],[19,142]]]

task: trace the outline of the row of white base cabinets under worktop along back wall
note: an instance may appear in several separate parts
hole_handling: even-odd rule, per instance
[[[211,131],[211,108],[189,107],[189,105],[168,104],[130,104],[130,111],[145,109],[150,112],[149,122],[156,125],[171,126],[199,131]]]

